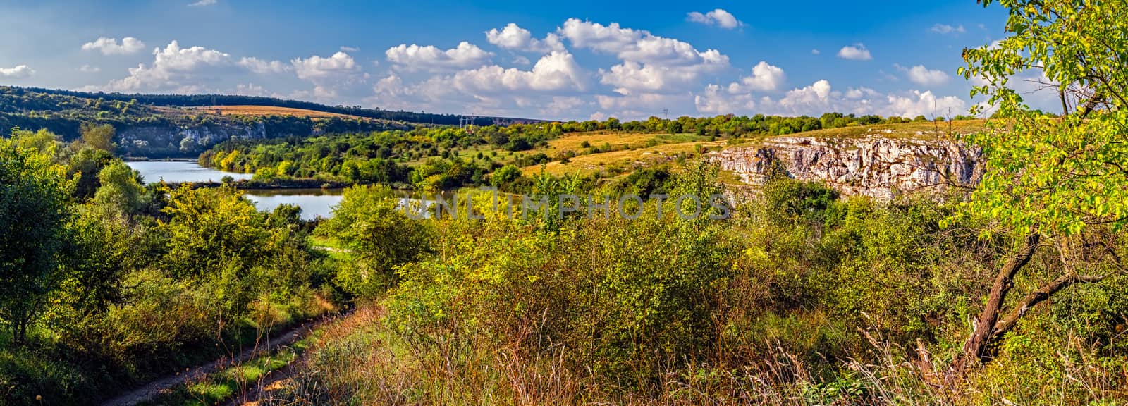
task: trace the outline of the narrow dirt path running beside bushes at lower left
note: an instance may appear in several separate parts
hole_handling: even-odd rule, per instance
[[[246,362],[256,354],[266,351],[273,351],[283,345],[292,344],[293,342],[298,341],[299,337],[301,337],[303,334],[306,334],[314,327],[325,323],[326,320],[333,320],[336,317],[333,316],[323,316],[318,319],[307,321],[302,325],[299,325],[297,327],[287,330],[285,333],[282,333],[274,337],[267,337],[264,343],[261,343],[261,345],[256,345],[255,347],[244,350],[233,359],[224,356],[204,365],[190,368],[185,370],[185,372],[183,373],[165,376],[164,378],[149,382],[143,387],[136,388],[126,394],[122,394],[121,396],[117,396],[113,399],[106,400],[102,404],[102,406],[133,406],[141,401],[150,400],[157,395],[171,391],[173,388],[175,388],[177,385],[190,382],[193,380],[200,380],[205,376],[208,376],[209,373],[215,372],[222,368]],[[285,369],[289,369],[289,367],[287,367]]]

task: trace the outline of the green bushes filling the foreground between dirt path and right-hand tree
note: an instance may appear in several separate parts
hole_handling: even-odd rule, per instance
[[[664,185],[711,193],[713,176],[690,166]],[[537,191],[571,185],[553,180],[538,178]],[[843,201],[778,177],[726,221],[680,220],[670,206],[659,220],[654,201],[635,221],[521,220],[504,210],[428,220],[431,254],[394,267],[398,284],[377,308],[382,316],[314,350],[296,396],[968,405],[1123,396],[1122,344],[1111,337],[1125,323],[1114,315],[1126,311],[1120,288],[1107,284],[1075,286],[1068,302],[1028,315],[995,362],[938,386],[922,356],[942,369],[960,351],[1014,239],[980,239],[988,224],[971,218],[940,228],[953,210],[927,200]],[[1123,245],[1122,236],[1103,237]],[[1048,254],[1016,289],[1058,272]]]

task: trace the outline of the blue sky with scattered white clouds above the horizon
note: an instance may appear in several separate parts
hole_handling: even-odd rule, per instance
[[[973,0],[8,1],[0,83],[554,120],[954,115]],[[951,112],[951,113],[949,113]]]

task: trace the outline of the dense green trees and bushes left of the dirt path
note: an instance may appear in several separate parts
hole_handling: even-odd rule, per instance
[[[143,187],[112,133],[0,138],[0,404],[87,405],[342,298],[296,208]]]

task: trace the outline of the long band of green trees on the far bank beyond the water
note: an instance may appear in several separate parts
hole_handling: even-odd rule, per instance
[[[919,117],[924,120],[924,117]],[[607,121],[455,127],[420,127],[362,134],[274,140],[231,140],[204,151],[200,164],[228,171],[255,174],[256,180],[318,179],[346,184],[414,186],[425,191],[492,184],[506,191],[526,191],[528,182],[514,185],[517,168],[564,161],[584,153],[613,152],[629,145],[581,144],[578,150],[545,153],[548,141],[575,133],[696,134],[700,139],[740,140],[783,135],[801,131],[882,123],[900,117],[854,116],[828,113],[820,118],[755,115],[679,117],[646,121]],[[710,135],[706,135],[710,134]],[[658,142],[658,139],[654,139]],[[739,142],[739,141],[737,141]],[[506,168],[508,167],[508,168]],[[502,176],[490,177],[506,168]],[[640,168],[634,168],[640,169]],[[609,174],[610,177],[619,175]]]

